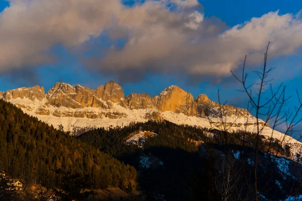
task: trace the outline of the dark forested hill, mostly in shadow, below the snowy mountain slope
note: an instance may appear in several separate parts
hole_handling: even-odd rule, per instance
[[[127,143],[138,131],[157,135],[140,139],[137,144]],[[135,166],[141,189],[151,198],[221,200],[225,190],[229,194],[223,200],[255,200],[252,133],[149,121],[124,128],[96,129],[78,138]],[[258,144],[258,200],[280,200],[299,193],[298,175],[302,169],[281,157],[286,147],[276,139],[259,138]],[[268,150],[279,157],[267,154]]]

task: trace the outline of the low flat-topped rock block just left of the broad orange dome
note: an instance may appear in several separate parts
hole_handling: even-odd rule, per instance
[[[131,110],[154,109],[152,98],[147,93],[131,93],[126,97],[128,107]]]

